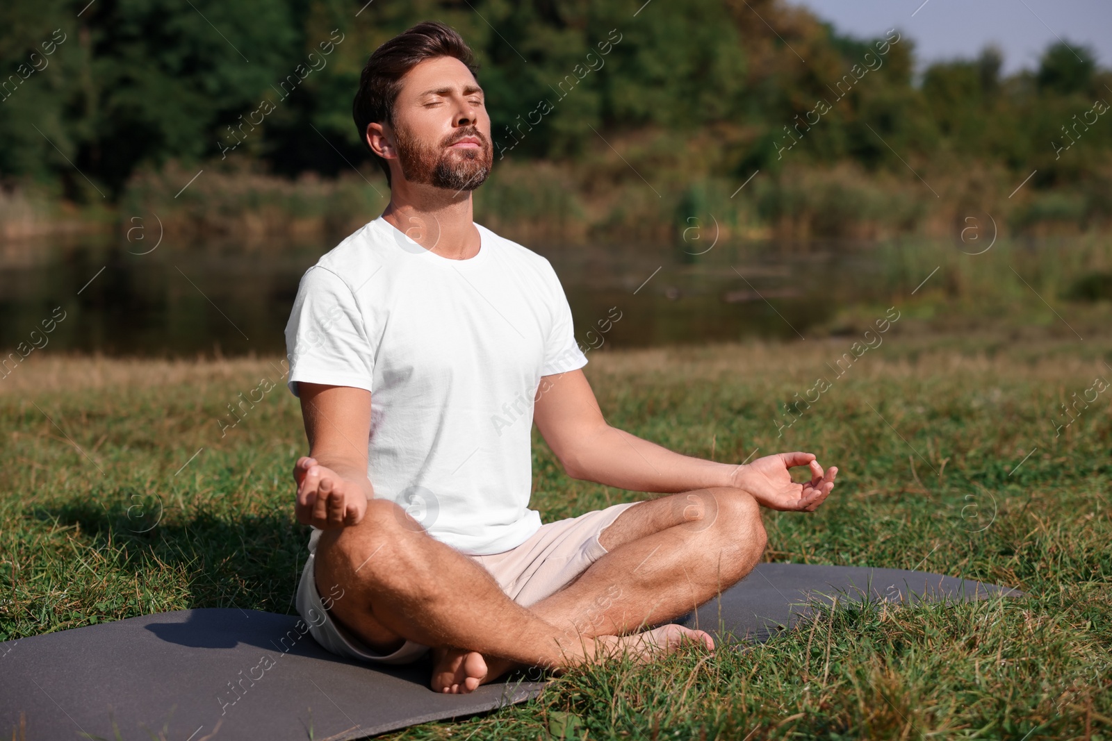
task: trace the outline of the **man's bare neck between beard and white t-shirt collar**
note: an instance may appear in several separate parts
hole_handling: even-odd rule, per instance
[[[449,260],[468,260],[479,251],[479,232],[471,220],[471,191],[395,183],[383,218],[430,252]]]

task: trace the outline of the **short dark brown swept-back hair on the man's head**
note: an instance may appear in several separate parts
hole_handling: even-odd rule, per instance
[[[367,149],[370,149],[370,144],[367,143],[369,123],[394,126],[394,102],[401,91],[401,78],[419,62],[436,57],[458,59],[467,66],[476,79],[478,78],[479,68],[470,47],[454,28],[439,21],[417,23],[383,43],[367,60],[359,78],[359,90],[355,93],[355,102],[351,104],[355,127],[359,130],[359,139],[367,144]],[[389,184],[389,162],[374,151],[371,154],[386,173],[386,182]]]

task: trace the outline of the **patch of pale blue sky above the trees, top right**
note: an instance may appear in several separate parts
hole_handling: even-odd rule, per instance
[[[920,63],[976,57],[989,43],[1004,52],[1005,74],[1035,69],[1059,38],[1090,47],[1112,67],[1112,0],[788,0],[840,33],[883,36],[897,28],[915,40]]]

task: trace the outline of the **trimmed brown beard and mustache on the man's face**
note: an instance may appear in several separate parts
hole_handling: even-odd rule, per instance
[[[465,127],[446,137],[436,146],[411,137],[406,129],[397,128],[398,163],[401,174],[413,183],[433,186],[445,190],[475,190],[490,174],[494,152],[490,141],[479,130]],[[465,137],[479,140],[477,149],[448,149]]]

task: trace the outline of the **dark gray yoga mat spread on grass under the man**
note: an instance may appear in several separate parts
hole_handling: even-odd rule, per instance
[[[916,571],[762,563],[677,622],[712,632],[719,648],[734,637],[762,641],[798,622],[808,598],[861,600],[866,590],[912,602],[1020,594]],[[544,687],[520,672],[468,694],[437,694],[427,657],[405,667],[347,661],[300,634],[297,623],[296,615],[198,609],[2,642],[0,735],[24,738],[22,717],[28,741],[115,741],[113,723],[125,741],[340,741],[466,718],[529,700]]]

